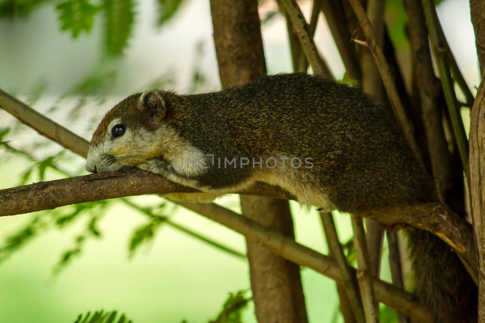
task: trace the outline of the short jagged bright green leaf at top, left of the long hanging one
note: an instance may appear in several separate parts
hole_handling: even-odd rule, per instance
[[[99,7],[86,0],[69,0],[56,6],[59,10],[61,30],[72,32],[72,38],[77,38],[81,31],[89,33],[93,27],[93,17]]]

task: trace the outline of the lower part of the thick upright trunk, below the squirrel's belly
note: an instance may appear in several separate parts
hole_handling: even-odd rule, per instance
[[[294,238],[288,201],[242,196],[241,206],[243,215]],[[246,246],[258,322],[307,322],[300,267],[257,242],[247,239]]]

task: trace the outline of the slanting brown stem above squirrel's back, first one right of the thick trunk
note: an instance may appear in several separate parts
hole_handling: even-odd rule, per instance
[[[293,24],[294,31],[300,40],[303,47],[303,51],[307,56],[307,60],[310,63],[313,73],[323,75],[324,77],[335,79],[328,67],[327,62],[318,53],[317,46],[311,36],[307,21],[300,7],[296,3],[296,0],[283,0],[286,8],[286,12],[290,16],[291,23]]]

